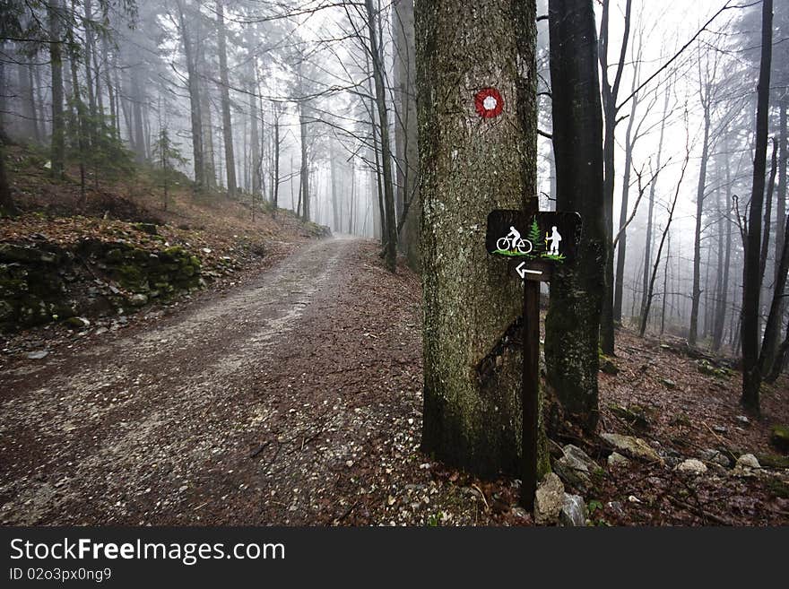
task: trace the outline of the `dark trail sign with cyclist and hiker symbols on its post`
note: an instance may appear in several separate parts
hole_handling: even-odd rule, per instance
[[[485,247],[510,260],[524,281],[524,374],[521,389],[521,504],[532,511],[537,489],[537,424],[540,391],[540,282],[553,268],[572,261],[581,233],[577,212],[493,211],[488,215]]]

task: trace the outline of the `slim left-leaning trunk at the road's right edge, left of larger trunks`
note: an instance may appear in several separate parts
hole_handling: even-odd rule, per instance
[[[384,87],[384,67],[376,30],[376,13],[372,0],[365,0],[369,34],[369,48],[373,62],[373,79],[376,82],[375,99],[378,109],[378,124],[381,138],[381,169],[384,183],[384,204],[386,211],[386,267],[395,272],[397,263],[397,226],[395,221],[395,190],[392,178],[392,150],[389,143],[389,115],[386,109],[386,88]]]

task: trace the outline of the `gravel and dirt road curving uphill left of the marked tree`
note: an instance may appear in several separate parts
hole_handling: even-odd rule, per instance
[[[395,522],[395,463],[422,474],[419,294],[375,244],[333,238],[153,324],[13,361],[0,521]]]

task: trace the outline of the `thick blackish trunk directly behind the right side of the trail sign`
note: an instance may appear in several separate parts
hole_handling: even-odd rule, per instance
[[[598,333],[606,234],[603,117],[592,0],[551,0],[551,100],[556,208],[581,214],[577,260],[551,282],[545,320],[548,381],[565,415],[587,431],[597,424]]]

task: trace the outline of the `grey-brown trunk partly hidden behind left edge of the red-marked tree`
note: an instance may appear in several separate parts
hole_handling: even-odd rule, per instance
[[[400,248],[408,265],[420,269],[419,122],[416,114],[414,76],[413,1],[395,0],[395,80],[398,120],[395,125],[397,151],[397,217]]]

